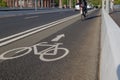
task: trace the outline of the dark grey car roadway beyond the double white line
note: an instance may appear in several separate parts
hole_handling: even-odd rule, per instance
[[[14,12],[13,12],[14,14]],[[4,38],[25,30],[38,27],[78,12],[74,10],[52,12],[46,14],[28,14],[0,18],[0,38]]]

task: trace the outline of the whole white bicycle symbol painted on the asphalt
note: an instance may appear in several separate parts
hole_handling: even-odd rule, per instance
[[[46,62],[56,61],[56,60],[64,58],[69,53],[68,49],[62,48],[59,46],[62,44],[63,43],[48,44],[47,42],[41,42],[31,47],[15,48],[15,49],[8,50],[2,53],[0,55],[0,59],[1,60],[15,59],[15,58],[25,56],[26,54],[29,54],[30,52],[34,51],[34,54],[39,55],[39,59],[42,61],[46,61]],[[43,49],[42,51],[39,51],[38,47],[47,47],[47,48]],[[59,56],[54,57],[54,58],[45,57],[45,56],[56,56],[56,55],[59,55]]]

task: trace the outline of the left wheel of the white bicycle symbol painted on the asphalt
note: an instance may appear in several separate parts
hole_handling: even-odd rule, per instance
[[[15,59],[22,57],[32,51],[31,47],[20,47],[15,48],[9,51],[6,51],[0,55],[0,59],[7,60],[7,59]]]

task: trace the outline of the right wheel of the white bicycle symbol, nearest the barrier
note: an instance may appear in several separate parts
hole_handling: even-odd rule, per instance
[[[54,49],[51,49],[51,51],[52,50],[54,50]],[[56,60],[59,60],[59,59],[62,59],[62,58],[64,58],[68,53],[69,53],[69,50],[68,49],[66,49],[66,48],[58,48],[57,50],[62,50],[62,51],[64,51],[64,53],[62,54],[62,55],[60,55],[59,57],[55,57],[55,58],[45,58],[45,56],[55,56],[55,55],[49,55],[48,53],[43,53],[43,54],[41,54],[40,55],[40,60],[42,60],[42,61],[46,61],[46,62],[50,62],[50,61],[56,61]],[[57,51],[58,52],[58,51]],[[59,54],[59,53],[57,53],[57,54]],[[56,54],[56,55],[57,55]]]

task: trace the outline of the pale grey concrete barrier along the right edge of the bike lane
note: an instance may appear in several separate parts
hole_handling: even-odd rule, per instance
[[[120,28],[102,10],[100,80],[120,80]]]

